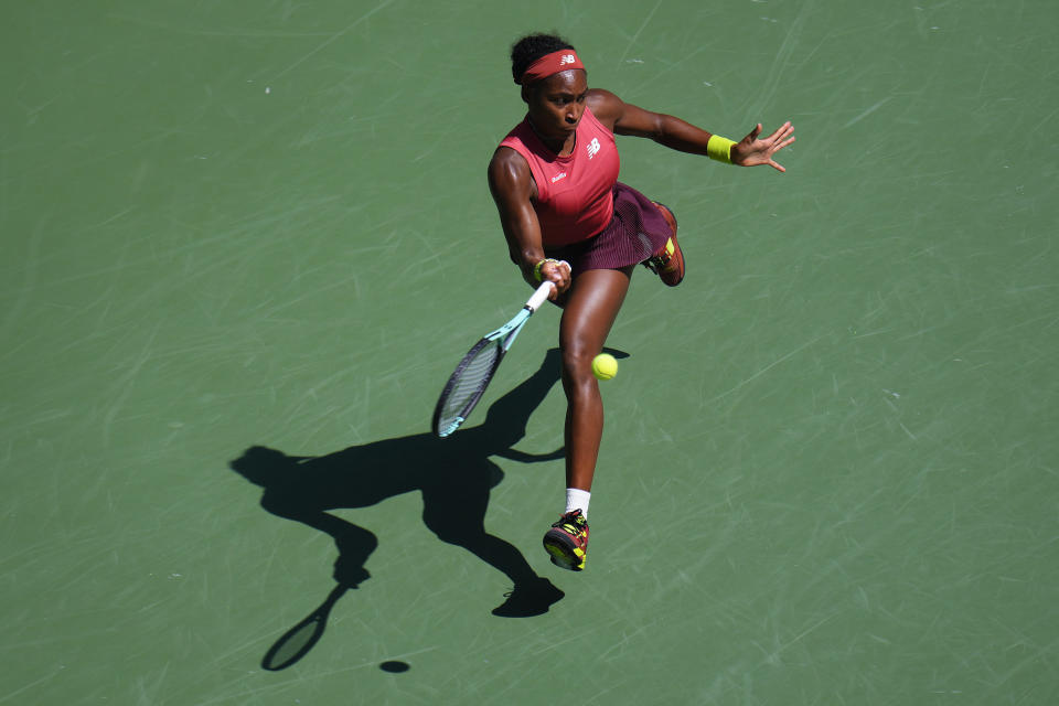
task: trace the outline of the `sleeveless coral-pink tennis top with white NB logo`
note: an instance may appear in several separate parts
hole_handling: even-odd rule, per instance
[[[585,108],[577,125],[577,145],[569,157],[556,157],[526,118],[500,143],[522,154],[537,184],[533,204],[545,246],[586,240],[600,233],[614,214],[612,190],[621,160],[613,133]]]

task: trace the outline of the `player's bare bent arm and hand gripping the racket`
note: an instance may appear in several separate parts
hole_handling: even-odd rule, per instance
[[[489,162],[489,191],[496,203],[511,259],[518,265],[523,279],[536,287],[539,282],[534,268],[545,255],[541,223],[533,210],[537,186],[525,158],[510,147],[496,148]],[[556,286],[550,299],[570,287],[570,270],[565,265],[545,263],[541,267],[541,277]]]

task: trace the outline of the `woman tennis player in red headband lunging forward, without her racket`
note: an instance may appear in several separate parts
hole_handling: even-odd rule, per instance
[[[782,172],[773,156],[794,141],[793,128],[784,122],[762,138],[758,125],[734,142],[601,88],[589,89],[574,46],[550,34],[518,40],[511,64],[527,111],[494,152],[489,188],[511,259],[531,285],[554,282],[552,299],[563,308],[567,499],[544,546],[556,565],[578,571],[588,553],[588,505],[603,430],[591,361],[603,347],[637,265],[670,287],[684,279],[676,218],[618,181],[614,136],[646,137],[681,152]]]

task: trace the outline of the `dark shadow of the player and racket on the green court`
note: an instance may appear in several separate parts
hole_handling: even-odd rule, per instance
[[[518,549],[484,527],[490,491],[504,477],[490,457],[526,463],[563,458],[561,448],[547,454],[513,448],[525,436],[530,415],[558,376],[559,355],[552,350],[533,375],[490,406],[480,425],[446,439],[418,434],[318,457],[292,457],[252,447],[232,461],[233,470],[264,488],[265,510],[327,533],[339,549],[334,565],[338,587],[317,611],[269,650],[263,666],[284,668],[300,660],[319,640],[334,602],[370,578],[365,563],[378,546],[375,533],[328,511],[367,507],[403,493],[422,494],[422,522],[439,539],[466,548],[511,579],[514,590],[492,611],[494,614],[537,616],[560,600],[563,591],[537,576]],[[385,522],[402,523],[405,518],[394,515]],[[386,526],[375,530],[384,536],[392,532]]]

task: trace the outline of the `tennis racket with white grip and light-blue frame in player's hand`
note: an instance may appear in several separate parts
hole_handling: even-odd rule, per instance
[[[489,333],[468,351],[456,372],[449,377],[438,405],[434,408],[434,434],[445,438],[460,428],[470,416],[482,393],[493,379],[504,353],[515,342],[515,338],[526,325],[526,321],[543,304],[555,285],[544,282],[530,297],[530,301],[515,314],[515,318]]]

